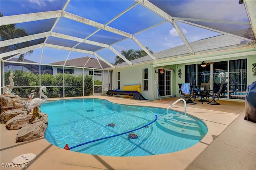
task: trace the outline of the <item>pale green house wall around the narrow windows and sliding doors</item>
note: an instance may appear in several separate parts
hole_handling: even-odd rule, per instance
[[[254,51],[255,52],[255,51]],[[218,56],[216,56],[218,58]],[[221,59],[210,59],[211,62],[220,62],[220,61],[229,61],[229,60],[237,60],[237,59],[247,59],[247,85],[252,84],[252,82],[256,81],[256,76],[253,76],[254,72],[252,71],[253,63],[256,63],[256,52],[255,55],[241,55],[239,57],[224,57]],[[207,60],[207,59],[202,59]],[[135,85],[135,84],[141,84],[142,87],[142,95],[148,99],[148,100],[156,100],[158,98],[158,92],[157,92],[157,86],[154,82],[154,80],[157,80],[157,74],[155,73],[155,70],[158,70],[158,68],[168,68],[168,69],[174,69],[173,79],[172,79],[172,86],[173,86],[173,94],[176,94],[176,96],[179,96],[179,87],[178,83],[184,83],[185,82],[185,65],[188,64],[198,64],[200,62],[193,62],[188,63],[184,61],[182,64],[173,64],[173,65],[165,65],[163,66],[157,66],[153,67],[152,63],[148,64],[138,64],[138,65],[132,65],[127,66],[124,68],[115,68],[113,70],[113,78],[112,78],[112,85],[113,90],[117,89],[117,72],[120,72],[120,87],[122,90],[122,86],[126,85]],[[148,91],[143,90],[143,68],[148,68]],[[179,72],[179,70],[181,70]],[[156,71],[157,72],[157,71]],[[179,74],[181,73],[180,77]]]

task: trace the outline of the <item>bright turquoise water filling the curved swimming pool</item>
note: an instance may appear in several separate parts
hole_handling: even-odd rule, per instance
[[[148,156],[192,147],[207,133],[202,121],[183,113],[155,107],[113,104],[100,99],[46,102],[41,107],[49,117],[47,141],[72,151],[106,156]],[[157,115],[157,116],[156,116]],[[157,120],[143,127],[148,123]],[[114,123],[114,127],[108,124]],[[126,133],[133,131],[138,139]],[[122,134],[76,147],[81,143]]]

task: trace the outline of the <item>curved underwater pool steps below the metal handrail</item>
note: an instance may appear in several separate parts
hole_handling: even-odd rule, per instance
[[[160,115],[156,125],[167,133],[196,140],[201,140],[207,130],[195,118],[184,115]]]

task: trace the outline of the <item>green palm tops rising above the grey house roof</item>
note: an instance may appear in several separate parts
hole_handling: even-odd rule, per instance
[[[148,49],[148,47],[146,47],[146,49]],[[149,51],[150,51],[150,53],[153,54],[153,51],[151,51],[151,50],[149,50]],[[133,50],[133,49],[129,49],[128,51],[122,50],[121,54],[129,61],[148,55],[144,50]],[[120,58],[119,56],[116,56],[115,65],[123,63],[123,62],[124,62],[124,60],[122,58]]]

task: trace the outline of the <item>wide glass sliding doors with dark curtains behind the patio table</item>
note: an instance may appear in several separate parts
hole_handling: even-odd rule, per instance
[[[211,90],[218,92],[224,84],[222,98],[245,99],[247,59],[212,62],[204,67],[200,64],[186,65],[185,74],[185,83],[192,83],[194,88],[200,88],[201,83],[210,83]]]

